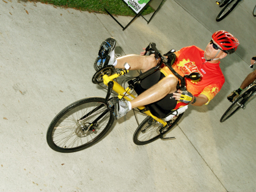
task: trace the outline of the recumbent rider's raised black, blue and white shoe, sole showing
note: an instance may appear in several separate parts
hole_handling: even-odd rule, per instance
[[[115,62],[115,44],[116,40],[111,37],[101,43],[98,57],[94,62],[94,69],[100,70],[106,65],[113,65]]]

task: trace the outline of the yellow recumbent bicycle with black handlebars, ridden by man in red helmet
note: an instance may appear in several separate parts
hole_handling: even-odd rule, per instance
[[[200,74],[193,72],[188,76],[181,77],[172,68],[176,56],[174,49],[162,56],[156,49],[155,43],[150,43],[146,48],[147,55],[155,54],[158,64],[141,73],[138,77],[131,77],[127,81],[128,87],[124,88],[114,81],[115,78],[129,73],[130,65],[125,63],[125,69],[117,69],[113,65],[106,65],[99,69],[93,76],[94,84],[104,82],[108,85],[108,93],[105,98],[93,97],[85,98],[72,103],[64,108],[55,119],[52,120],[47,131],[47,142],[49,147],[58,152],[76,152],[91,147],[98,141],[103,139],[110,127],[117,119],[118,114],[115,112],[115,102],[131,101],[136,98],[131,94],[131,90],[135,90],[138,95],[150,88],[164,78],[161,67],[166,65],[171,72],[178,78],[177,90],[183,91],[180,101],[172,98],[173,94],[167,94],[160,101],[151,103],[146,106],[137,107],[139,112],[146,115],[146,119],[139,124],[134,132],[133,141],[137,145],[151,143],[156,139],[172,139],[174,137],[164,138],[164,134],[170,131],[180,120],[183,112],[188,107],[187,101],[192,99],[192,95],[186,91],[185,78],[197,80]],[[167,56],[167,57],[165,57]],[[118,96],[110,98],[112,91]],[[171,101],[171,102],[170,102]]]

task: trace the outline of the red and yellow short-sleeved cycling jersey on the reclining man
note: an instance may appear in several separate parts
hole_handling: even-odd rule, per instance
[[[210,100],[220,91],[225,82],[224,75],[220,69],[220,62],[212,64],[205,62],[204,51],[195,45],[184,47],[175,52],[176,61],[172,68],[181,76],[188,75],[192,72],[201,74],[199,80],[193,81],[186,79],[187,90],[197,97],[204,94]],[[172,74],[167,66],[163,67],[166,75]],[[206,103],[206,105],[209,103]]]

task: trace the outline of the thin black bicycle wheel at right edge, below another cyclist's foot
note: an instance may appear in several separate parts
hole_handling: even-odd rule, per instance
[[[235,112],[237,112],[240,108],[243,108],[245,106],[245,103],[250,99],[251,96],[253,96],[253,93],[255,91],[255,86],[251,86],[249,89],[247,89],[245,92],[243,92],[241,95],[239,95],[238,98],[232,103],[232,105],[224,112],[222,115],[220,122],[225,122],[230,116],[234,115]]]

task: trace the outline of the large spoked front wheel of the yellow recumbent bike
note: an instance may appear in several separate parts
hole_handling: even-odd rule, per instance
[[[47,143],[61,153],[81,151],[103,139],[113,122],[104,98],[81,99],[55,116],[47,130]]]

